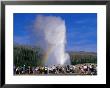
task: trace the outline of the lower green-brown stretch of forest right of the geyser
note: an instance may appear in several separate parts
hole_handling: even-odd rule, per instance
[[[92,52],[71,52],[71,64],[97,63],[97,54]]]

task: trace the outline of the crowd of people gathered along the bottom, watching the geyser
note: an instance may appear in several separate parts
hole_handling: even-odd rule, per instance
[[[97,66],[93,64],[84,65],[53,65],[53,66],[14,66],[14,74],[34,74],[34,75],[97,75]]]

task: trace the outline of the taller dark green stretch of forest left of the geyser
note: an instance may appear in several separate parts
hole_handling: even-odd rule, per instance
[[[23,45],[14,46],[15,66],[38,66],[42,64],[42,49]]]

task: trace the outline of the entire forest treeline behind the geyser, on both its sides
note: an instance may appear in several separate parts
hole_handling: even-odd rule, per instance
[[[97,54],[88,52],[69,52],[71,64],[97,63]],[[40,47],[14,45],[15,66],[41,66],[43,50]]]

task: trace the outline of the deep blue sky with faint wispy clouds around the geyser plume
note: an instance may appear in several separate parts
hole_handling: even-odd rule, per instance
[[[33,45],[34,41],[30,39],[32,24],[39,14],[14,14],[14,43]],[[58,16],[65,20],[67,51],[97,51],[96,13],[44,13],[40,15]]]

